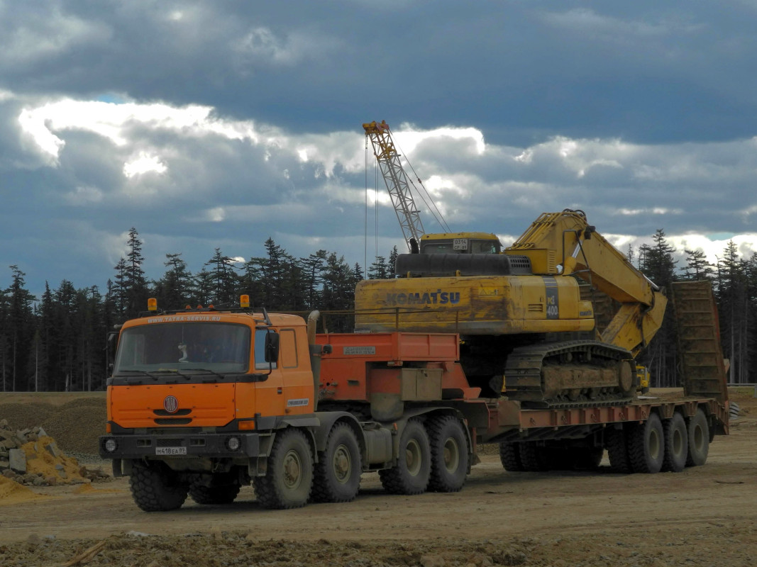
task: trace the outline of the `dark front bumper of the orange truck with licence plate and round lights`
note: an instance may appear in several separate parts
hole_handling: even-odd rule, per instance
[[[261,438],[256,432],[103,435],[100,457],[103,459],[143,458],[255,458],[265,457]]]

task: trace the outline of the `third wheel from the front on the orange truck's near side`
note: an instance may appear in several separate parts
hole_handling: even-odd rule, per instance
[[[410,420],[400,437],[397,464],[378,471],[384,490],[391,494],[422,494],[431,476],[431,449],[420,420]]]

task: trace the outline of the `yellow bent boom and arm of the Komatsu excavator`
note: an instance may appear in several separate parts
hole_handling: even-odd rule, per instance
[[[580,277],[619,302],[601,338],[634,357],[662,325],[668,302],[663,290],[597,233],[582,211],[542,213],[505,253],[528,256],[540,274]]]

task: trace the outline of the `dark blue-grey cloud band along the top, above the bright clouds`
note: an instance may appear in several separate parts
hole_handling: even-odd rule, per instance
[[[755,8],[659,2],[6,3],[6,88],[210,104],[292,132],[391,117],[492,141],[755,130]]]

